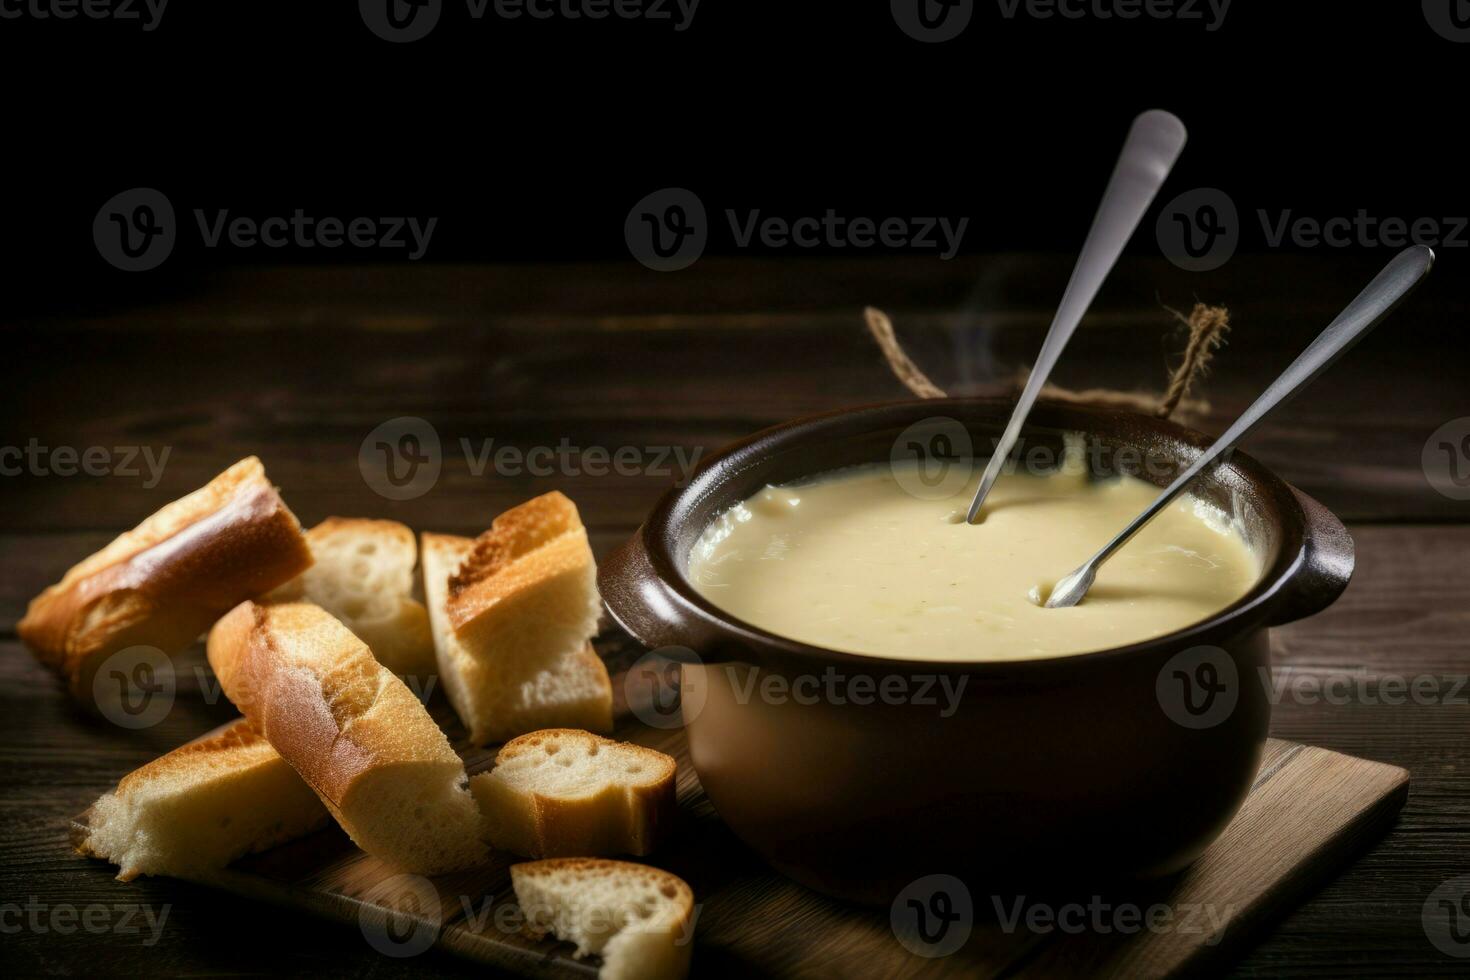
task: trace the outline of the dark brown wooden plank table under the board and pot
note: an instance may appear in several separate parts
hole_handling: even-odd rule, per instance
[[[1202,392],[1214,411],[1197,422],[1217,432],[1383,259],[1241,256],[1208,275],[1129,262],[1057,381],[1158,389],[1177,345],[1161,304],[1220,303],[1235,329]],[[0,480],[4,968],[470,973],[448,956],[390,961],[351,930],[178,882],[121,884],[69,851],[69,815],[231,714],[181,696],[163,723],[119,730],[69,707],[16,642],[26,599],[119,530],[254,453],[304,522],[363,514],[472,533],[504,507],[560,488],[606,552],[678,478],[670,451],[688,458],[791,416],[904,397],[866,336],[864,304],[894,314],[941,385],[1004,389],[1036,350],[1067,266],[989,256],[707,259],[672,275],[631,264],[248,269],[104,317],[7,325],[0,447],[35,445],[46,470],[66,469],[66,457],[40,447],[169,455],[157,480],[137,460],[132,476],[43,475],[26,460]],[[1421,464],[1430,433],[1470,414],[1458,342],[1470,297],[1454,275],[1442,262],[1404,311],[1250,444],[1345,517],[1358,542],[1347,595],[1274,635],[1295,693],[1282,696],[1273,735],[1394,763],[1414,782],[1396,829],[1241,961],[1241,976],[1464,970],[1420,923],[1429,892],[1470,871],[1470,502],[1436,492]],[[357,453],[400,416],[435,428],[444,463],[431,492],[392,501],[368,486]],[[491,451],[548,447],[557,472],[479,469],[488,439]],[[603,469],[587,453],[598,447],[632,447],[623,460],[638,460],[639,472],[591,472]],[[1419,693],[1385,704],[1399,679]],[[1322,682],[1327,695],[1313,695]],[[129,920],[138,932],[121,929],[119,907],[137,905],[154,915],[168,907],[156,942],[141,914]],[[84,924],[88,907],[106,909],[91,912],[100,929]]]

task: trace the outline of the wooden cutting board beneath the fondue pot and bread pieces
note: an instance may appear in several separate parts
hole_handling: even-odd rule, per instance
[[[614,691],[622,692],[620,677]],[[450,738],[462,735],[435,702]],[[679,761],[679,829],[650,864],[684,877],[698,918],[692,976],[776,977],[1170,977],[1223,965],[1276,917],[1336,873],[1392,823],[1408,773],[1272,739],[1239,814],[1189,870],[1129,895],[992,896],[972,890],[936,952],[906,948],[889,909],[816,895],[770,871],[720,823],[688,761],[682,732],[650,729],[619,705],[617,736]],[[470,773],[492,751],[456,745]],[[84,827],[85,817],[74,824]],[[597,961],[519,932],[509,867],[520,858],[434,880],[395,874],[332,827],[245,858],[206,884],[304,909],[360,930],[385,955],[438,946],[534,977],[592,977]],[[975,889],[973,883],[970,886]],[[925,895],[925,901],[933,901]],[[960,905],[954,896],[935,911]],[[1053,926],[1060,917],[1061,927]],[[1152,929],[1142,927],[1152,921]],[[910,920],[911,921],[911,920]],[[1032,923],[1032,926],[1028,926]],[[1047,929],[1051,926],[1051,929]],[[967,930],[967,932],[966,932]],[[914,942],[911,930],[910,942]]]

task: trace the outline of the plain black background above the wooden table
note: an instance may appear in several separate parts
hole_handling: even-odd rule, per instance
[[[964,251],[1067,253],[1129,119],[1152,106],[1191,131],[1163,197],[1227,191],[1242,251],[1267,247],[1255,209],[1470,212],[1470,46],[1439,37],[1419,3],[1236,0],[1214,31],[1197,9],[1204,19],[1005,19],[985,0],[941,44],[907,37],[881,1],[704,0],[681,32],[475,21],[445,0],[409,44],[370,34],[353,3],[175,0],[151,32],[3,19],[6,306],[110,310],[220,263],[403,260],[206,250],[194,207],[435,216],[434,263],[625,260],[634,201],[678,185],[711,216],[967,216]],[[181,216],[172,257],[147,275],[110,269],[91,242],[101,203],[132,187]],[[716,220],[709,253],[734,248]],[[1152,235],[1132,251],[1157,254]]]

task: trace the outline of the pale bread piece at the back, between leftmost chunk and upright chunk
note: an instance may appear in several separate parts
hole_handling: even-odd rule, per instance
[[[306,532],[315,563],[266,598],[316,602],[400,676],[435,671],[429,613],[413,598],[419,547],[395,520],[328,517]]]

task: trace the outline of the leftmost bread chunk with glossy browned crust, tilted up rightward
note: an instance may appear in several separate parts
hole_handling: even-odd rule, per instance
[[[128,646],[173,654],[241,599],[312,564],[301,525],[247,457],[74,566],[16,626],[82,701]]]

